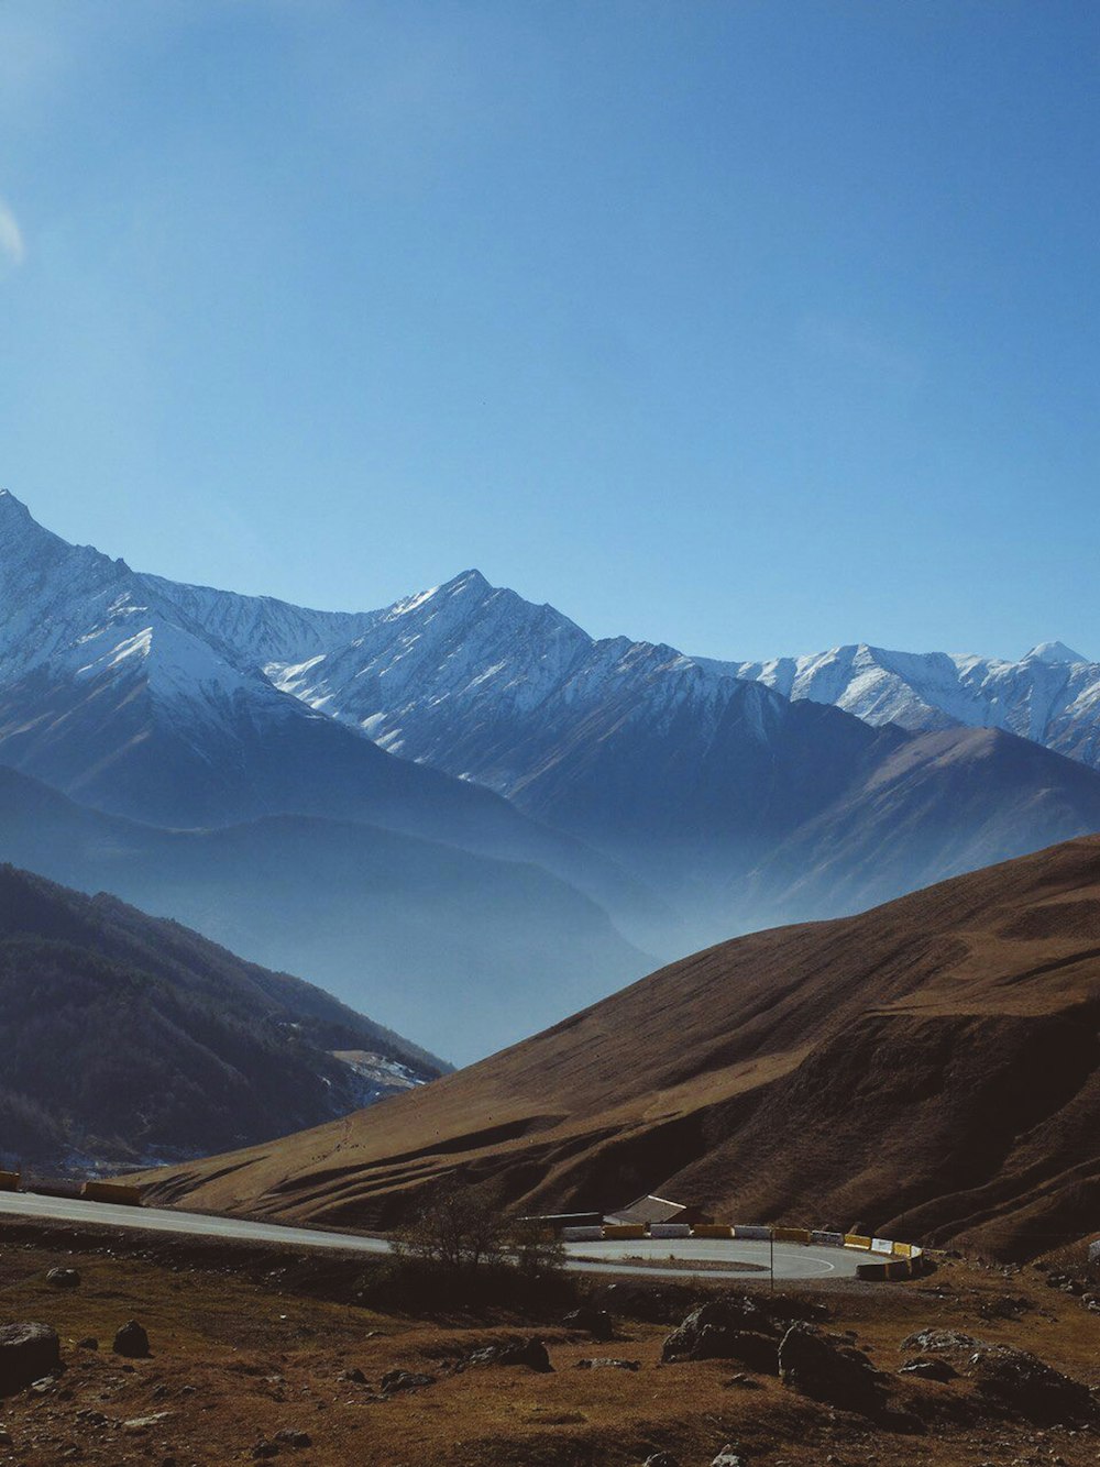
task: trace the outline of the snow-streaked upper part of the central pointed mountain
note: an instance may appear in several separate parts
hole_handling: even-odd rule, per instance
[[[619,723],[644,719],[653,736],[691,726],[700,751],[730,701],[744,701],[745,729],[761,742],[786,709],[783,697],[748,695],[729,670],[675,647],[597,641],[478,571],[396,601],[336,651],[267,670],[390,753],[502,794],[609,709]]]

